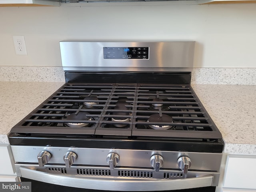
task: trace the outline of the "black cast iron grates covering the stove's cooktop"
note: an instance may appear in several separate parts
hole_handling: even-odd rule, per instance
[[[184,84],[66,83],[12,132],[222,138]]]

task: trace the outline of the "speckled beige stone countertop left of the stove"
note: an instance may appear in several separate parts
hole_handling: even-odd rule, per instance
[[[65,82],[0,82],[0,144],[11,128]]]

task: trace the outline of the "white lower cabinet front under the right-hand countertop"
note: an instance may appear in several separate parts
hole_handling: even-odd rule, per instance
[[[228,155],[223,192],[256,191],[256,156]]]

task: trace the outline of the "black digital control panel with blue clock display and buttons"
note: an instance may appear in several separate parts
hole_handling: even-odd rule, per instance
[[[149,59],[149,47],[103,47],[104,59]]]

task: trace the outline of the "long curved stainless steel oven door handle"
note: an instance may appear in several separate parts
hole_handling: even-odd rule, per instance
[[[114,190],[114,191],[162,191],[180,190],[212,186],[213,176],[203,176],[184,179],[116,179],[106,177],[106,179],[79,178],[76,176],[54,175],[26,167],[20,167],[23,178],[56,184],[61,186],[94,189],[94,190]]]

